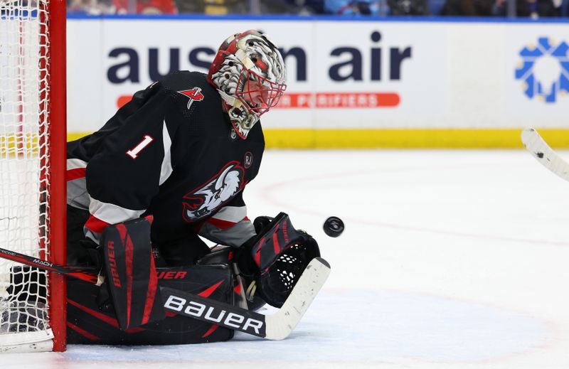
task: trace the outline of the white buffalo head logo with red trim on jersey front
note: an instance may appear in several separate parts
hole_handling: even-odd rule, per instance
[[[243,189],[245,169],[238,161],[230,161],[206,184],[186,193],[183,217],[193,222],[213,213]]]

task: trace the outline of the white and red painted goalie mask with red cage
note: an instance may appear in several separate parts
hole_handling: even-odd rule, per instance
[[[238,136],[247,138],[260,116],[285,92],[285,63],[274,43],[255,30],[230,36],[211,64],[208,81],[216,87]]]

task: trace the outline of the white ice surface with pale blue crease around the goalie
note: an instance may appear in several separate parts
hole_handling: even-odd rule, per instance
[[[285,211],[332,267],[289,338],[70,345],[2,355],[1,368],[569,368],[569,183],[530,154],[267,151],[262,161],[244,193],[250,218]],[[330,215],[346,224],[340,237],[322,231]]]

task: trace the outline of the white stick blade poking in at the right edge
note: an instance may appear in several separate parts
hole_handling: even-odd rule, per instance
[[[541,165],[557,174],[565,181],[569,181],[569,164],[564,161],[533,128],[526,128],[521,132],[521,141]]]

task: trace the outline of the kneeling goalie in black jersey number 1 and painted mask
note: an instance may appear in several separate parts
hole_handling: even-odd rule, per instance
[[[207,75],[168,75],[68,143],[68,264],[105,277],[68,279],[68,343],[225,341],[232,323],[258,333],[255,317],[184,294],[251,314],[282,306],[319,247],[284,213],[252,222],[243,190],[265,149],[259,118],[285,88],[275,44],[245,31],[223,41]],[[166,290],[180,292],[169,309]]]

